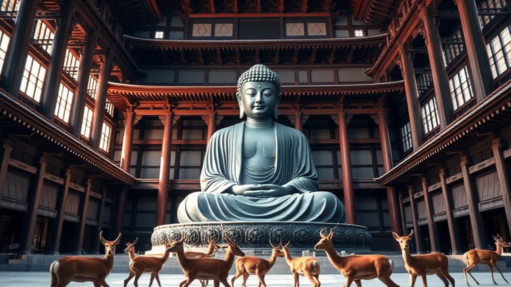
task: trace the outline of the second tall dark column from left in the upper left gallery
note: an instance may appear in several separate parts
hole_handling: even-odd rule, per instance
[[[63,6],[60,11],[62,16],[56,21],[52,55],[50,56],[46,74],[44,75],[44,85],[41,95],[41,113],[50,120],[53,119],[55,115],[57,94],[62,77],[62,67],[64,66],[67,41],[69,37],[71,37],[75,26],[75,21],[72,21],[76,9],[74,2],[64,1]]]

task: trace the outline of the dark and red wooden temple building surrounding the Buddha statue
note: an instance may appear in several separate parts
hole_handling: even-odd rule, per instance
[[[373,250],[509,241],[508,2],[0,0],[0,253],[149,249],[258,63]]]

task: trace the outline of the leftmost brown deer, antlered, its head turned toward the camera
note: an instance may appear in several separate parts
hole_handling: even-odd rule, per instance
[[[101,231],[99,238],[105,246],[105,257],[66,256],[55,260],[50,266],[50,287],[67,286],[71,281],[92,282],[95,287],[109,287],[105,278],[112,270],[115,246],[121,240],[121,233],[114,241],[106,241]]]

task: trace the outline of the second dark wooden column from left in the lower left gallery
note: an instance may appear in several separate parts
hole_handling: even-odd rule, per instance
[[[46,171],[46,159],[41,156],[39,159],[39,168],[35,177],[35,184],[32,185],[29,198],[27,200],[27,211],[23,225],[21,226],[19,252],[21,254],[32,253],[32,240],[34,239],[35,222],[37,211],[39,210],[39,201],[41,198],[44,173]]]

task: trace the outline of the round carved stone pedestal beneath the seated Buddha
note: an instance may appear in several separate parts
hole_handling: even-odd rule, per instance
[[[271,253],[273,245],[281,241],[290,242],[289,250],[301,254],[304,250],[314,250],[319,241],[319,231],[323,227],[335,227],[335,223],[316,222],[197,222],[160,225],[154,228],[151,236],[153,248],[146,254],[161,254],[165,245],[184,238],[185,248],[202,251],[210,239],[224,243],[222,226],[227,235],[247,254]],[[367,228],[353,224],[339,224],[334,230],[333,243],[337,251],[369,253],[371,234]]]

